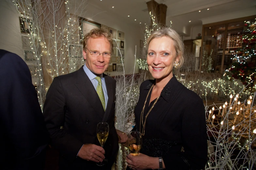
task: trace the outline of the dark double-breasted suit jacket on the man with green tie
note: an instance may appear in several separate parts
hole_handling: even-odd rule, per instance
[[[104,112],[100,98],[83,67],[54,78],[43,107],[51,144],[60,152],[60,169],[110,169],[118,152],[118,136],[114,126],[116,82],[104,75],[108,102]],[[108,166],[76,157],[83,144],[100,143],[96,136],[99,122],[109,124],[104,145]],[[60,129],[63,126],[63,129]]]

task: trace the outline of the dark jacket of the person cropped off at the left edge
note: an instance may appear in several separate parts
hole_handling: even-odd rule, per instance
[[[27,64],[0,50],[0,169],[42,169],[49,140]]]

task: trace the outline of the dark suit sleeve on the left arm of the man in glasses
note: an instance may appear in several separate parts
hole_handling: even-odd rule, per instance
[[[54,78],[47,94],[43,107],[44,120],[50,133],[51,145],[58,149],[67,160],[76,158],[83,143],[60,129],[65,123],[67,110],[62,84],[58,77]]]

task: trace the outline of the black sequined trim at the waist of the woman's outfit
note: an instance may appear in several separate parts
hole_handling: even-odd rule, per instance
[[[161,157],[165,156],[168,153],[168,150],[177,145],[177,141],[167,141],[163,139],[142,139],[142,148],[141,152],[147,152],[148,156],[151,157]]]

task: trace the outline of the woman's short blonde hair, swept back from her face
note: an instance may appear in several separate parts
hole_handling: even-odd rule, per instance
[[[147,44],[146,44],[146,54],[148,54],[148,49],[149,49],[149,44],[150,42],[155,39],[155,38],[161,38],[163,36],[167,36],[169,38],[171,38],[174,42],[174,48],[176,50],[176,58],[179,56],[179,67],[181,68],[181,66],[184,63],[185,60],[185,52],[184,52],[184,43],[180,37],[180,35],[172,28],[160,28],[156,31],[154,31],[148,38],[147,40]],[[176,59],[175,58],[175,59]]]

